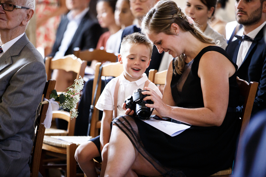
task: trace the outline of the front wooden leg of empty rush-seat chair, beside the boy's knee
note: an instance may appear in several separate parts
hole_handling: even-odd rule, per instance
[[[76,177],[77,172],[77,161],[75,159],[75,151],[77,145],[72,143],[68,144],[66,148],[66,176],[67,177]]]

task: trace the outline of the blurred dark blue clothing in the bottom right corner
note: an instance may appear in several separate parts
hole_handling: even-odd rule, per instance
[[[252,118],[239,144],[234,177],[266,177],[266,110]]]

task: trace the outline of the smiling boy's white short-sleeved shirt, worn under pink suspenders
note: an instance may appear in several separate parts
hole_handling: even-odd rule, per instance
[[[114,91],[115,91],[115,84],[117,80],[120,80],[119,90],[118,90],[118,98],[117,98],[117,115],[125,115],[124,110],[122,109],[122,105],[126,98],[133,94],[133,91],[136,89],[143,89],[145,82],[148,80],[148,77],[145,73],[142,74],[142,77],[139,80],[130,82],[126,80],[124,77],[124,72],[112,79],[105,88],[101,96],[99,97],[95,107],[99,110],[114,110]],[[161,98],[163,95],[161,94],[160,90],[157,88],[155,84],[152,82],[149,83],[149,88],[154,90]],[[115,118],[114,111],[113,111],[113,119]]]

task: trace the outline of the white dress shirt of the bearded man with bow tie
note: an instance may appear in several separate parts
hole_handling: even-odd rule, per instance
[[[266,24],[266,22],[264,21],[263,24],[261,24],[259,27],[257,27],[256,29],[254,29],[253,31],[249,32],[246,35],[248,37],[254,39],[257,36],[257,34],[259,33],[259,31],[264,27],[265,24]],[[242,35],[244,35],[244,33],[242,33]],[[242,41],[241,42],[241,44],[239,46],[238,54],[237,54],[237,59],[236,59],[236,64],[237,64],[238,68],[243,63],[251,44],[252,44],[251,41]]]

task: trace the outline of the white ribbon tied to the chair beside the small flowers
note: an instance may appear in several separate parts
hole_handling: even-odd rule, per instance
[[[43,98],[43,99],[45,101],[48,101],[49,105],[48,105],[47,112],[45,114],[46,117],[45,117],[43,123],[41,123],[41,124],[44,124],[45,128],[50,128],[51,127],[51,122],[52,122],[52,117],[53,117],[53,111],[59,110],[59,105],[55,101],[55,98],[51,98],[50,100],[47,100],[46,98]]]

